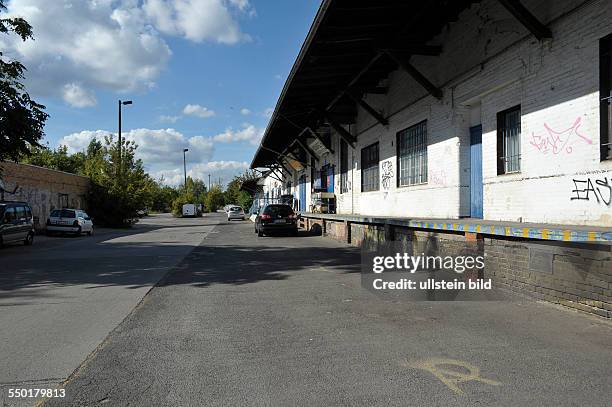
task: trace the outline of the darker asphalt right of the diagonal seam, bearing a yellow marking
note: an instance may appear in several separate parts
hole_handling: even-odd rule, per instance
[[[607,321],[377,296],[355,248],[219,221],[47,406],[612,405]]]

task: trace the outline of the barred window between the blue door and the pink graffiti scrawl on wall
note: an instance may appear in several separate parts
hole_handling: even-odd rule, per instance
[[[497,174],[521,170],[521,106],[497,114]]]

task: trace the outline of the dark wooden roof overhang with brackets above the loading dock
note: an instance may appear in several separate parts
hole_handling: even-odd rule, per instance
[[[379,122],[386,119],[362,100],[384,93],[380,81],[398,67],[435,97],[441,92],[426,73],[410,65],[412,55],[438,55],[430,44],[444,25],[478,1],[323,0],[289,73],[251,168],[278,165],[295,139],[317,137],[331,126],[354,142],[341,125],[353,123],[360,104]],[[324,133],[324,132],[323,132]],[[325,139],[322,138],[322,142]]]

